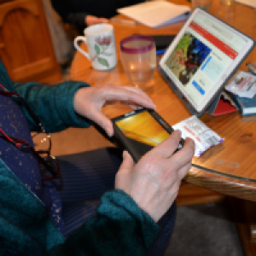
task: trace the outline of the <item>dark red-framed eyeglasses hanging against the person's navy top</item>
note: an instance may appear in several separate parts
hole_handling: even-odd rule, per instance
[[[31,153],[35,156],[35,158],[38,160],[39,165],[41,165],[41,167],[44,166],[44,168],[40,168],[43,175],[42,181],[49,181],[60,177],[60,167],[55,157],[50,154],[51,138],[49,136],[49,133],[45,131],[44,125],[41,124],[36,114],[32,112],[32,109],[29,107],[29,105],[26,103],[22,96],[20,96],[18,93],[10,92],[9,90],[5,89],[2,84],[0,84],[0,88],[3,89],[0,90],[0,95],[18,98],[20,102],[22,102],[22,104],[26,107],[27,111],[31,114],[32,119],[35,121],[39,128],[39,132],[32,136],[32,138],[34,142],[36,141],[35,145],[37,146],[37,148],[40,149],[35,150],[35,148],[33,148],[32,145],[30,145],[26,141],[14,137],[9,137],[1,128],[0,137],[2,137],[5,141],[9,143],[12,143],[13,145],[15,145],[16,148],[19,148],[21,151]],[[47,173],[47,171],[50,173],[51,176],[49,176],[49,173]]]

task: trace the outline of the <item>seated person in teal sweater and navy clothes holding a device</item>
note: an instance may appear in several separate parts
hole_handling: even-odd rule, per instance
[[[14,84],[0,61],[1,255],[161,255],[175,218],[175,198],[195,146],[179,131],[135,165],[125,152],[103,148],[56,160],[37,152],[31,131],[100,125],[114,100],[155,108],[133,87]],[[41,154],[46,154],[47,159]]]

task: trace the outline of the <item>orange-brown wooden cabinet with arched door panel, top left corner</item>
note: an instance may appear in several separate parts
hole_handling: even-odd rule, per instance
[[[40,0],[0,2],[0,57],[15,82],[61,81]]]

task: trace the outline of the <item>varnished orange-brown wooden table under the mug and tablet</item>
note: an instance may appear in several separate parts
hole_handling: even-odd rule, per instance
[[[209,12],[256,39],[256,10],[239,3],[233,3],[231,6],[224,5],[220,1],[213,0]],[[185,0],[172,0],[171,2],[190,4]],[[124,16],[119,16],[127,19]],[[151,29],[138,24],[127,25],[113,23],[113,26],[119,57],[119,42],[122,38],[133,33],[149,35],[175,34],[183,26],[183,22],[158,29]],[[256,62],[256,49],[253,49],[253,52],[241,64],[241,70],[247,70],[247,61]],[[90,66],[90,61],[87,61],[80,53],[74,56],[71,76],[72,79],[86,81],[92,86],[97,84],[130,84],[120,61],[113,70],[99,72],[93,70]],[[157,106],[157,111],[170,125],[174,125],[190,116],[188,110],[183,106],[182,102],[180,102],[164,79],[162,79],[158,71],[154,73],[154,86],[146,89],[145,92],[153,99]],[[104,113],[112,118],[129,110],[122,106],[115,106],[104,109]],[[232,197],[246,199],[248,201],[256,201],[256,116],[243,117],[241,113],[236,112],[213,117],[205,113],[201,117],[201,120],[221,137],[224,137],[225,140],[224,143],[207,150],[201,157],[193,159],[194,166],[185,177],[185,181],[222,195],[231,195]],[[186,193],[190,192],[193,194],[192,189],[188,191]],[[249,212],[247,214],[248,220],[256,224],[256,219],[252,217],[255,214],[251,213],[254,212],[256,207],[254,202],[253,205],[250,205],[248,201],[241,201],[241,207],[248,210],[246,211],[247,213]],[[196,199],[193,202],[195,203]],[[247,227],[243,223],[240,224],[241,236],[243,237],[247,255],[255,255],[252,252],[256,252],[254,244],[249,241],[249,238],[252,240],[256,239],[254,235],[255,227],[256,225],[251,225],[249,227],[250,230],[247,232]]]

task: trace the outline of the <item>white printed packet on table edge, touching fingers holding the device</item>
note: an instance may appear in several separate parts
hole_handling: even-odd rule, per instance
[[[219,137],[215,131],[212,131],[195,115],[189,119],[184,119],[176,125],[172,125],[172,128],[181,131],[183,139],[190,137],[195,141],[195,156],[197,157],[208,148],[212,148],[224,141],[224,138]]]

